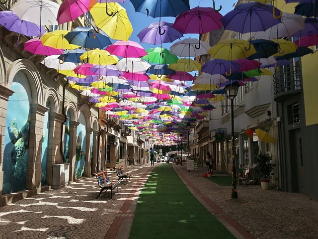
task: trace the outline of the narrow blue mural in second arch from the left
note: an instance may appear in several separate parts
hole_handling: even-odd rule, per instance
[[[46,107],[49,108],[47,112],[44,113],[44,122],[43,122],[43,137],[42,137],[42,154],[41,154],[41,184],[45,185],[46,183],[46,171],[48,165],[48,146],[49,146],[49,127],[50,127],[50,102],[48,101]]]

